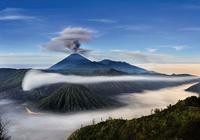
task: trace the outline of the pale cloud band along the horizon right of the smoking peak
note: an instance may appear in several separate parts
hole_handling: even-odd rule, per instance
[[[117,61],[126,61],[131,64],[142,63],[157,63],[157,64],[177,64],[177,63],[200,63],[199,56],[186,57],[178,55],[169,55],[165,53],[151,53],[142,51],[130,51],[130,50],[110,50],[110,51],[98,51],[90,54],[91,58],[95,60],[112,59]]]

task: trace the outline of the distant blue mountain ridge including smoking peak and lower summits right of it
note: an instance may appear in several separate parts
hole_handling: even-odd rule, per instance
[[[78,53],[74,53],[51,66],[48,70],[53,71],[78,71],[87,73],[115,72],[119,74],[153,74],[154,72],[130,65],[126,62],[105,59],[99,62],[91,61]]]

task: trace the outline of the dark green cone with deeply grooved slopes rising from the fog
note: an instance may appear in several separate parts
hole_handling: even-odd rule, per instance
[[[82,85],[63,85],[41,100],[39,108],[55,112],[82,111],[119,105]]]

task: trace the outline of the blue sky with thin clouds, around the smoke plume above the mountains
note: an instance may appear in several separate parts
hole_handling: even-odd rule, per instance
[[[97,32],[83,44],[95,60],[200,63],[199,0],[1,0],[0,66],[62,59],[41,45],[67,27]]]

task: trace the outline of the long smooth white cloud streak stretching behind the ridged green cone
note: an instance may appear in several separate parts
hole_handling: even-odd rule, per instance
[[[191,80],[194,77],[153,77],[153,76],[76,76],[62,75],[57,73],[45,73],[38,70],[30,70],[26,73],[22,88],[24,91],[29,91],[41,86],[56,84],[56,83],[102,83],[114,81],[182,81]]]

